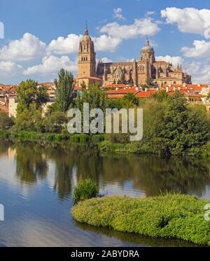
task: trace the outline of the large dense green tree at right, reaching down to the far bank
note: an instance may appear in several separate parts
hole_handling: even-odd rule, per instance
[[[189,107],[186,98],[175,92],[168,99],[160,137],[167,141],[172,155],[202,153],[207,143],[209,122],[204,107]]]

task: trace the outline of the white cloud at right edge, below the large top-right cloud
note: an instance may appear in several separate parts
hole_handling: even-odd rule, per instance
[[[193,48],[186,46],[181,48],[184,56],[197,58],[210,57],[210,42],[195,40],[193,41],[193,45]]]

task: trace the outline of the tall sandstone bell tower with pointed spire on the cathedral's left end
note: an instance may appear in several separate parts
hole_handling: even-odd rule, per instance
[[[87,23],[85,33],[80,41],[78,51],[78,76],[77,78],[96,76],[94,43],[89,36]]]

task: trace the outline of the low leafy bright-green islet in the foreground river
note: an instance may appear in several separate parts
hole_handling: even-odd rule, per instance
[[[204,219],[209,203],[175,194],[145,199],[114,196],[78,202],[71,212],[78,222],[96,227],[210,246],[210,221]]]

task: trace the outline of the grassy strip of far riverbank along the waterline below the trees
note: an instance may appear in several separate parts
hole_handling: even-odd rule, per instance
[[[131,153],[136,155],[155,155],[158,157],[171,156],[167,148],[160,142],[160,147],[154,142],[134,141],[130,142],[125,134],[69,134],[69,133],[41,133],[10,130],[0,130],[0,138],[12,141],[35,141],[39,143],[65,144],[66,147],[96,148],[102,153]],[[190,152],[191,151],[191,152]],[[195,148],[195,151],[186,150],[176,156],[192,156],[207,158],[210,156],[210,141],[205,146]]]

